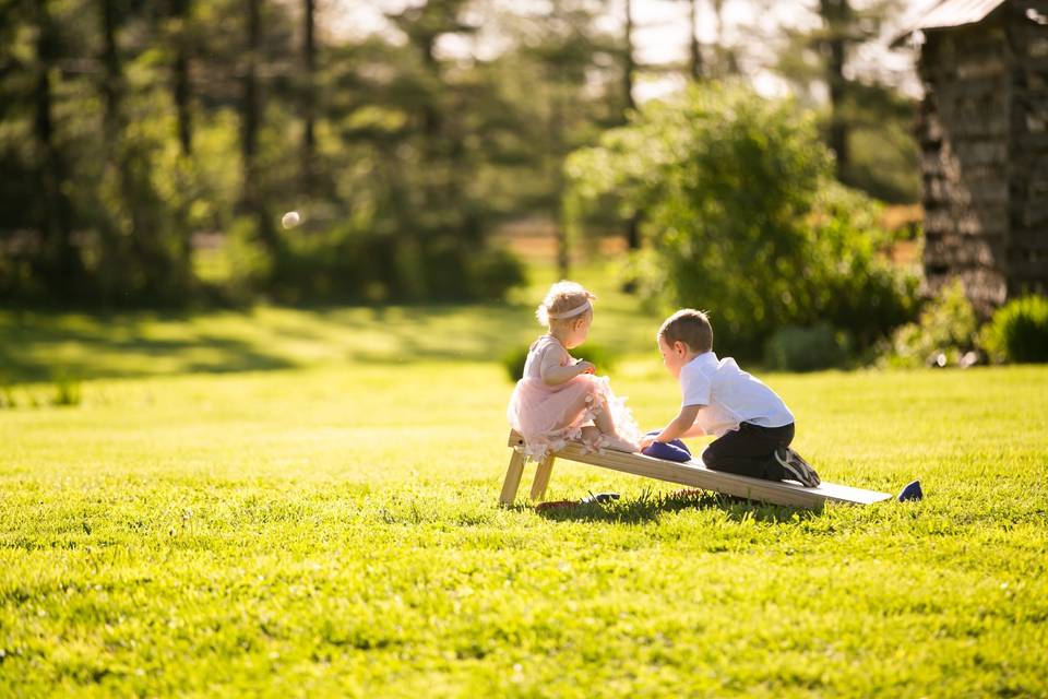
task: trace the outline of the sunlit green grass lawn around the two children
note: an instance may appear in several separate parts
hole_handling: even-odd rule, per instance
[[[658,319],[604,300],[665,422]],[[764,377],[824,479],[922,502],[559,462],[622,499],[537,513],[497,507],[528,305],[0,313],[0,696],[1048,695],[1048,368]],[[80,405],[28,406],[55,367]]]

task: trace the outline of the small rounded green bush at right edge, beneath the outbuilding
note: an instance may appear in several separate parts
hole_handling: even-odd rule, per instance
[[[1048,298],[1025,296],[1009,301],[982,329],[979,344],[991,362],[1048,362]]]

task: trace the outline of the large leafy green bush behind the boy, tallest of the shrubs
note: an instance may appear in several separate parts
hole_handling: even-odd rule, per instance
[[[879,254],[877,206],[833,181],[811,115],[742,85],[645,104],[568,163],[576,194],[643,211],[663,306],[710,308],[722,347],[759,356],[783,325],[827,322],[860,347],[913,317],[916,279]]]

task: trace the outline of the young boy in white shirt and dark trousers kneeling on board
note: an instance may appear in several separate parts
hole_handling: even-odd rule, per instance
[[[663,363],[680,382],[680,413],[658,435],[641,442],[715,435],[702,461],[715,471],[754,478],[793,478],[809,488],[820,483],[808,462],[789,448],[794,416],[783,399],[739,368],[735,359],[717,359],[713,328],[702,311],[679,310],[658,330]]]

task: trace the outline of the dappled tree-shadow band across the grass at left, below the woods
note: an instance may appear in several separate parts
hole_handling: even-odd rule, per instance
[[[62,356],[62,371],[78,379],[299,366],[282,350],[283,341],[323,346],[330,354],[341,348],[343,359],[368,364],[491,359],[500,348],[524,342],[517,341],[517,335],[526,336],[520,318],[528,313],[527,308],[508,304],[287,310],[296,312],[288,317],[271,313],[261,321],[262,334],[247,339],[230,335],[260,322],[252,311],[214,313],[230,317],[230,335],[194,327],[194,320],[212,316],[209,311],[0,312],[0,384],[51,380],[57,354]],[[223,321],[217,321],[219,327]],[[381,337],[381,350],[355,342],[358,333]],[[201,351],[206,352],[205,357],[200,356]],[[157,358],[166,360],[165,369],[157,368],[153,362]]]

